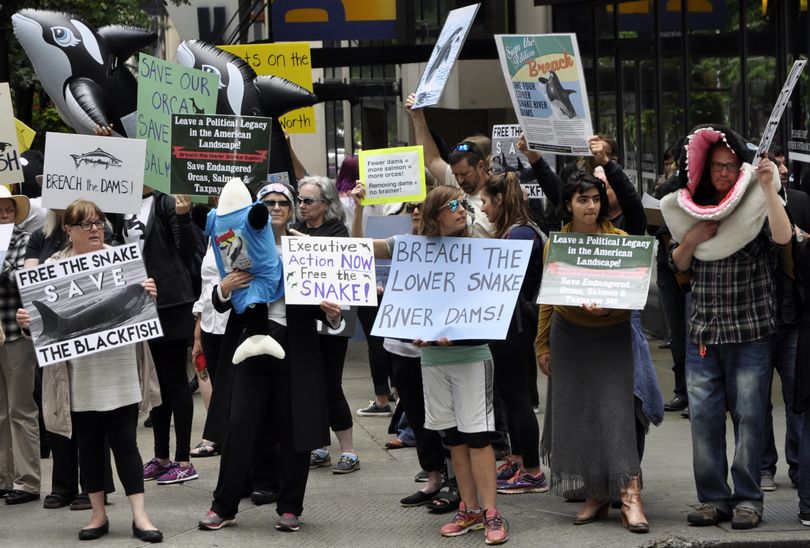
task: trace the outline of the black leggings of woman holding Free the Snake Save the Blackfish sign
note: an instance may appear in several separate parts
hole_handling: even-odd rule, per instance
[[[87,492],[104,491],[106,436],[124,493],[127,496],[143,493],[143,461],[135,434],[138,405],[133,403],[112,411],[75,412],[71,413],[71,419],[79,444],[79,465]]]

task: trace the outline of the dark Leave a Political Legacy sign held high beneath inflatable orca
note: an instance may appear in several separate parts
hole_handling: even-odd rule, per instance
[[[175,114],[172,123],[172,194],[219,196],[239,177],[255,192],[267,178],[270,118]]]

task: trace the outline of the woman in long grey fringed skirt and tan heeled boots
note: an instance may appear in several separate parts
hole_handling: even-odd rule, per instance
[[[566,183],[559,209],[568,221],[564,233],[625,234],[608,220],[605,184],[593,175]],[[604,518],[611,495],[619,494],[623,525],[634,533],[650,530],[641,505],[632,349],[627,310],[594,303],[540,307],[535,350],[540,369],[554,381],[543,452],[557,493],[586,493],[574,525]]]

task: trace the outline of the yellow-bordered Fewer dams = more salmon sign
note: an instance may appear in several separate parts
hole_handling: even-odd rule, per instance
[[[425,157],[422,146],[361,150],[360,179],[366,186],[363,205],[425,199]]]

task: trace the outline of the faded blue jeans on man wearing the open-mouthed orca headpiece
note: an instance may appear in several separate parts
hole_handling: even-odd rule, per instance
[[[762,515],[759,464],[771,367],[771,338],[686,348],[686,387],[692,423],[692,461],[698,500],[731,514],[747,508]],[[728,486],[726,405],[734,425],[734,460]]]

